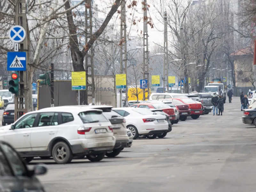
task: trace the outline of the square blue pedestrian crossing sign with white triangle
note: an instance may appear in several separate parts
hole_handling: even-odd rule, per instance
[[[7,52],[7,71],[26,71],[26,52]]]

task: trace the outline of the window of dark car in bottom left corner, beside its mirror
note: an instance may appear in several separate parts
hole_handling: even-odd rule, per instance
[[[26,165],[21,161],[18,153],[14,151],[9,145],[2,144],[1,147],[12,167],[12,171],[14,175],[26,176],[27,175]]]

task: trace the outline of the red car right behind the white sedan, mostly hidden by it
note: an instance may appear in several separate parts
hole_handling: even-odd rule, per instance
[[[170,108],[168,105],[164,103],[138,103],[135,105],[132,105],[131,107],[134,108],[151,108],[151,109],[162,109],[164,113],[167,113],[170,116],[170,121],[175,120],[175,112],[173,108]]]

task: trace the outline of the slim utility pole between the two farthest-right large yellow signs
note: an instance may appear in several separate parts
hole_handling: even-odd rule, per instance
[[[163,86],[165,93],[165,81],[167,84],[167,92],[169,91],[169,71],[168,71],[168,46],[167,46],[167,12],[164,12],[164,77],[163,77]]]

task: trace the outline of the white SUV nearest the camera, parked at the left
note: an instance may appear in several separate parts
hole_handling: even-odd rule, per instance
[[[44,108],[21,116],[0,132],[27,162],[50,157],[58,164],[85,155],[100,161],[112,150],[116,139],[102,110],[91,108]]]

